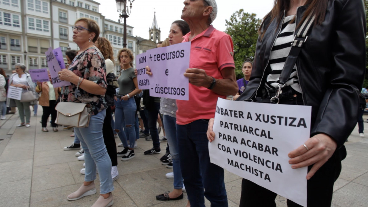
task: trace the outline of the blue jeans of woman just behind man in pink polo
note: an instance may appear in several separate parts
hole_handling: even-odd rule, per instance
[[[167,144],[170,145],[170,154],[173,157],[174,189],[182,189],[184,185],[180,169],[178,139],[176,137],[176,118],[163,115],[163,125],[165,127]]]

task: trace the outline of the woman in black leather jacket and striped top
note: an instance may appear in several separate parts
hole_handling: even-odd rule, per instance
[[[311,138],[288,154],[291,168],[308,166],[307,206],[331,205],[358,117],[365,24],[361,0],[277,0],[259,28],[251,79],[237,101],[312,106]],[[243,179],[240,206],[276,206],[275,197]]]

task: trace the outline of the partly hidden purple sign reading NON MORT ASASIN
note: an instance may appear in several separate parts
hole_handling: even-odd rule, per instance
[[[146,74],[147,53],[142,53],[135,56],[135,65],[137,66],[137,80],[139,89],[149,89],[151,77]]]

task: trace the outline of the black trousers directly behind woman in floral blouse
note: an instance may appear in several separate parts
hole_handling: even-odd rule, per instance
[[[116,155],[116,142],[114,137],[113,128],[111,127],[111,106],[107,107],[106,109],[106,116],[105,120],[103,120],[102,126],[102,134],[103,134],[103,141],[106,145],[107,154],[111,159],[111,166],[117,165],[117,155]]]

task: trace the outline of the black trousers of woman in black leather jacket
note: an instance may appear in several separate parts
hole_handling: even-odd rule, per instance
[[[340,150],[345,150],[343,146]],[[333,193],[333,183],[341,172],[340,150],[307,181],[307,206],[330,207]],[[345,150],[346,151],[346,150]],[[308,166],[308,172],[312,168]],[[261,187],[247,179],[241,182],[240,207],[276,207],[277,194]],[[291,200],[287,200],[288,207],[301,207]]]

